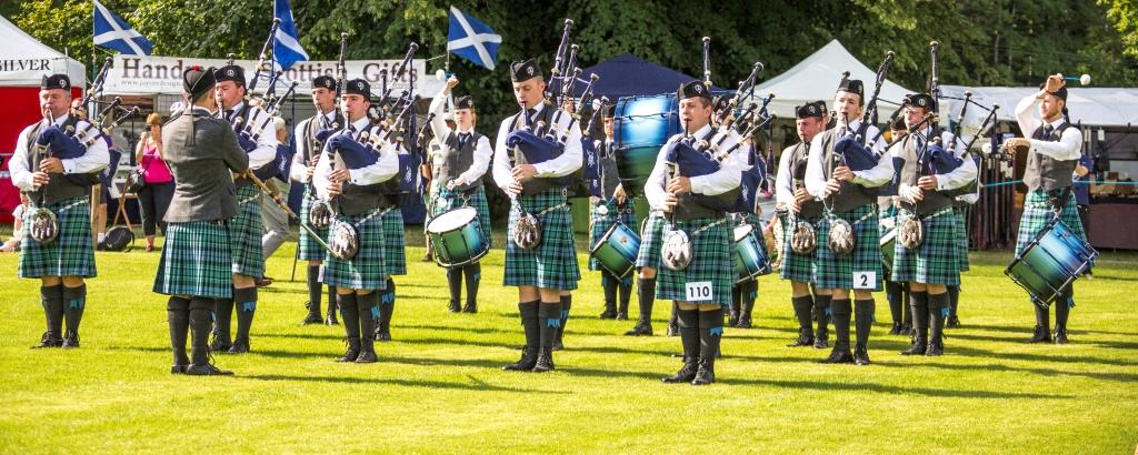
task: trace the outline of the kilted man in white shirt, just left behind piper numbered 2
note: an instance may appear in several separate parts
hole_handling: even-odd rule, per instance
[[[817,265],[814,251],[794,253],[792,240],[798,223],[816,225],[822,217],[822,202],[806,192],[806,164],[810,141],[825,129],[825,105],[811,102],[794,108],[794,124],[799,143],[785,148],[778,159],[775,176],[775,200],[783,228],[782,270],[780,276],[790,280],[791,306],[798,318],[799,336],[787,347],[814,346],[823,349],[830,345],[826,325],[830,320],[830,296],[811,296],[810,284],[815,282]],[[810,322],[811,308],[817,309],[818,330],[815,333]]]

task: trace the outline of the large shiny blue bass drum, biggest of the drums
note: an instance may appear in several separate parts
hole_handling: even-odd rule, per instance
[[[679,110],[675,94],[628,97],[617,100],[613,113],[617,173],[629,196],[644,192],[660,147],[679,134]]]

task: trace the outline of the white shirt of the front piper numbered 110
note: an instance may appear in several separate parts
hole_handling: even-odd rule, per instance
[[[699,129],[694,134],[696,138],[702,138],[711,131],[711,125],[707,124]],[[742,140],[739,138],[739,133],[731,131],[727,140],[724,141],[725,148],[721,150],[726,151],[732,144]],[[678,141],[683,139],[683,134],[676,134],[668,138],[668,143]],[[712,141],[714,142],[714,141]],[[691,177],[692,192],[696,195],[707,196],[718,196],[727,191],[739,188],[739,183],[743,177],[743,172],[748,169],[747,154],[750,152],[750,147],[740,146],[735,148],[731,155],[727,156],[723,162],[720,162],[719,171],[707,175],[700,175],[696,177]],[[663,200],[668,196],[667,184],[668,184],[668,160],[665,156],[663,148],[655,157],[655,166],[652,167],[652,174],[648,177],[648,183],[644,184],[644,197],[648,199],[649,206],[653,210],[665,210],[667,206]]]

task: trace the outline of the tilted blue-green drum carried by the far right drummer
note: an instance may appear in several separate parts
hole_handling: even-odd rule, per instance
[[[1098,251],[1090,243],[1055,218],[1044,226],[1004,274],[1023,287],[1036,303],[1048,305],[1081,276],[1096,257]]]

